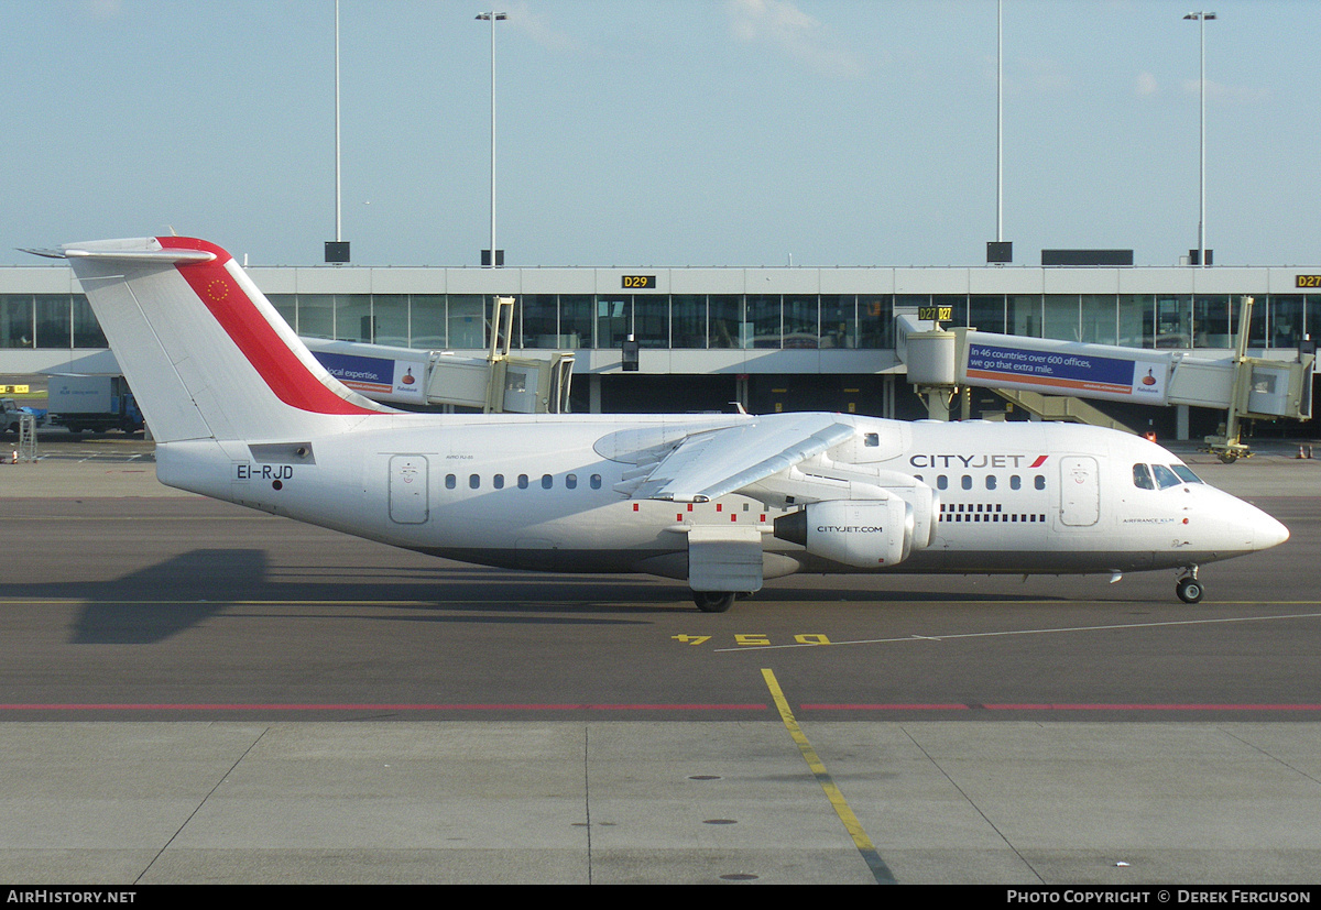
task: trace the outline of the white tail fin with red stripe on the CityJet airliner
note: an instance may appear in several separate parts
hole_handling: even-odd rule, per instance
[[[95,240],[62,255],[157,441],[325,435],[392,412],[332,376],[213,243]]]

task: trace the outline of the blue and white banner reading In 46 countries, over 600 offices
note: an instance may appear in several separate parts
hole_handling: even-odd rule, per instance
[[[1170,359],[1141,349],[968,332],[962,382],[1165,404]]]

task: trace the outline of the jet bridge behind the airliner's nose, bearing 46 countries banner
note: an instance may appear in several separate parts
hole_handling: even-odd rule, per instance
[[[1036,396],[1052,404],[1030,409],[1083,423],[1100,420],[1079,399],[1215,408],[1226,412],[1225,427],[1206,444],[1229,462],[1251,454],[1240,440],[1242,419],[1312,417],[1314,355],[1303,354],[1296,362],[1248,357],[1251,308],[1252,298],[1244,297],[1238,346],[1230,357],[945,330],[939,312],[897,316],[897,353],[935,419],[947,420],[956,390],[970,386],[1016,395],[1024,404]],[[1061,404],[1066,399],[1071,404]]]

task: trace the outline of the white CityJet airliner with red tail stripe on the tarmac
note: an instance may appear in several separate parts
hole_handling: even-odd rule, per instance
[[[332,378],[234,259],[180,236],[66,258],[164,483],[466,563],[641,572],[719,613],[794,572],[1111,573],[1275,547],[1147,440],[841,413],[429,415]]]

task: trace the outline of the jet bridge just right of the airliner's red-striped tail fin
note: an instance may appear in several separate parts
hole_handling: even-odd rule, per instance
[[[304,338],[336,379],[375,402],[480,408],[486,413],[568,413],[573,353],[514,357],[514,298],[495,298],[486,357]]]

